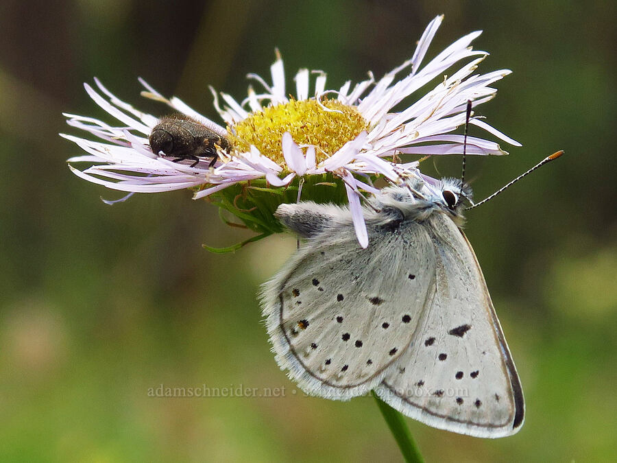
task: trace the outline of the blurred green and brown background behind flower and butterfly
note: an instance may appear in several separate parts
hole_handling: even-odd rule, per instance
[[[189,191],[120,194],[79,180],[61,112],[112,119],[82,82],[154,114],[141,76],[215,120],[212,84],[238,99],[279,47],[328,88],[376,76],[475,29],[484,72],[509,68],[479,108],[524,147],[474,158],[484,198],[544,156],[566,156],[468,213],[468,237],[527,399],[519,434],[479,440],[408,420],[428,461],[616,456],[617,220],[614,1],[174,2],[3,0],[0,5],[0,460],[398,460],[370,398],[293,394],[255,294],[292,252],[224,226]],[[472,128],[472,134],[481,134]],[[80,134],[81,135],[81,134]],[[506,147],[506,149],[509,149]],[[460,158],[424,163],[457,176]],[[428,170],[427,170],[428,169]],[[285,388],[282,397],[165,399],[149,388]]]

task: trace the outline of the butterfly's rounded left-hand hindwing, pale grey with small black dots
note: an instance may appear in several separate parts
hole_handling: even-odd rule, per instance
[[[306,203],[286,207],[292,228],[296,209],[311,221]],[[367,221],[363,249],[351,220],[323,227],[328,209],[311,207],[309,228],[322,229],[264,285],[262,305],[281,368],[308,394],[346,400],[379,385],[409,347],[435,285],[424,270],[435,267],[433,245],[419,226]]]

